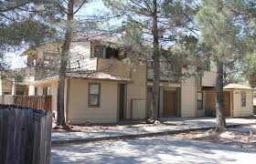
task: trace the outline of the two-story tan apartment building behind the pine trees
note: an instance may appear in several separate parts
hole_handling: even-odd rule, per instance
[[[72,42],[65,86],[65,113],[73,123],[115,123],[122,119],[143,119],[152,108],[152,68],[149,63],[129,62],[111,46],[98,40]],[[28,63],[53,65],[58,44],[38,47],[28,55]],[[124,59],[124,60],[123,60]],[[136,61],[133,59],[133,61]],[[171,69],[171,68],[170,68]],[[48,70],[47,70],[48,71]],[[58,77],[39,69],[30,84],[30,95],[52,95],[57,111]],[[187,71],[183,70],[182,71]],[[193,69],[189,70],[193,71]],[[216,72],[208,66],[203,77],[185,80],[161,77],[159,117],[201,117],[215,103],[211,94]]]

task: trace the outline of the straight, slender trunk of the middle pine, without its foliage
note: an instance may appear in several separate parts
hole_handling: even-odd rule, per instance
[[[157,2],[153,0],[153,112],[154,119],[158,118],[158,108],[159,108],[159,81],[160,81],[160,65],[159,65],[159,40],[158,40],[158,25],[157,25]]]

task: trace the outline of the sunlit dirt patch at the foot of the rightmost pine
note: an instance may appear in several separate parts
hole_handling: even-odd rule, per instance
[[[227,145],[235,145],[240,148],[256,149],[256,129],[251,132],[240,132],[236,130],[228,130],[217,133],[212,129],[208,131],[191,131],[189,133],[179,133],[174,135],[176,138],[189,138],[204,140],[212,143],[220,143]]]

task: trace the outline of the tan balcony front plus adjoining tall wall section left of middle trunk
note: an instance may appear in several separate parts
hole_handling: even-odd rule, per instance
[[[146,106],[146,66],[127,66],[123,61],[98,58],[98,71],[112,76],[130,78],[132,83],[127,84],[126,108],[124,118],[145,118]]]

